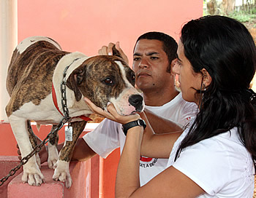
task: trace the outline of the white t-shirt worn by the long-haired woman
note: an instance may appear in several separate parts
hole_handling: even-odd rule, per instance
[[[176,140],[167,167],[175,167],[206,191],[200,198],[252,198],[255,169],[252,155],[239,140],[237,128],[184,148],[174,162],[188,130]]]

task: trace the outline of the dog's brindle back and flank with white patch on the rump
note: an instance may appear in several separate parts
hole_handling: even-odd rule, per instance
[[[18,44],[7,73],[7,92],[10,96],[15,93],[16,98],[8,106],[7,116],[29,101],[39,105],[50,94],[53,71],[67,53],[47,37],[34,36]]]

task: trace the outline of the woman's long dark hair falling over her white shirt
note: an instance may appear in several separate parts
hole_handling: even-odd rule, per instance
[[[199,73],[206,68],[211,84],[203,92],[200,111],[181,141],[183,148],[238,127],[241,143],[256,159],[255,93],[249,84],[255,74],[256,50],[249,31],[236,20],[206,16],[181,31],[184,55]]]

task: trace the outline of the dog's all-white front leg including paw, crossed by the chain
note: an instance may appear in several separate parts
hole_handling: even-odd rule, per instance
[[[20,117],[12,114],[9,116],[9,121],[18,142],[21,157],[26,157],[32,151],[26,119],[21,119]],[[23,183],[29,183],[31,186],[40,186],[44,182],[44,176],[39,170],[35,156],[32,156],[29,161],[23,165],[23,176],[21,180]]]

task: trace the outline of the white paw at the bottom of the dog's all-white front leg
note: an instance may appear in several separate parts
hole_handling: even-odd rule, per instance
[[[26,164],[23,165],[23,175],[21,177],[21,181],[23,181],[23,183],[29,183],[31,186],[41,186],[41,184],[45,182],[45,178],[39,170],[37,164]]]

